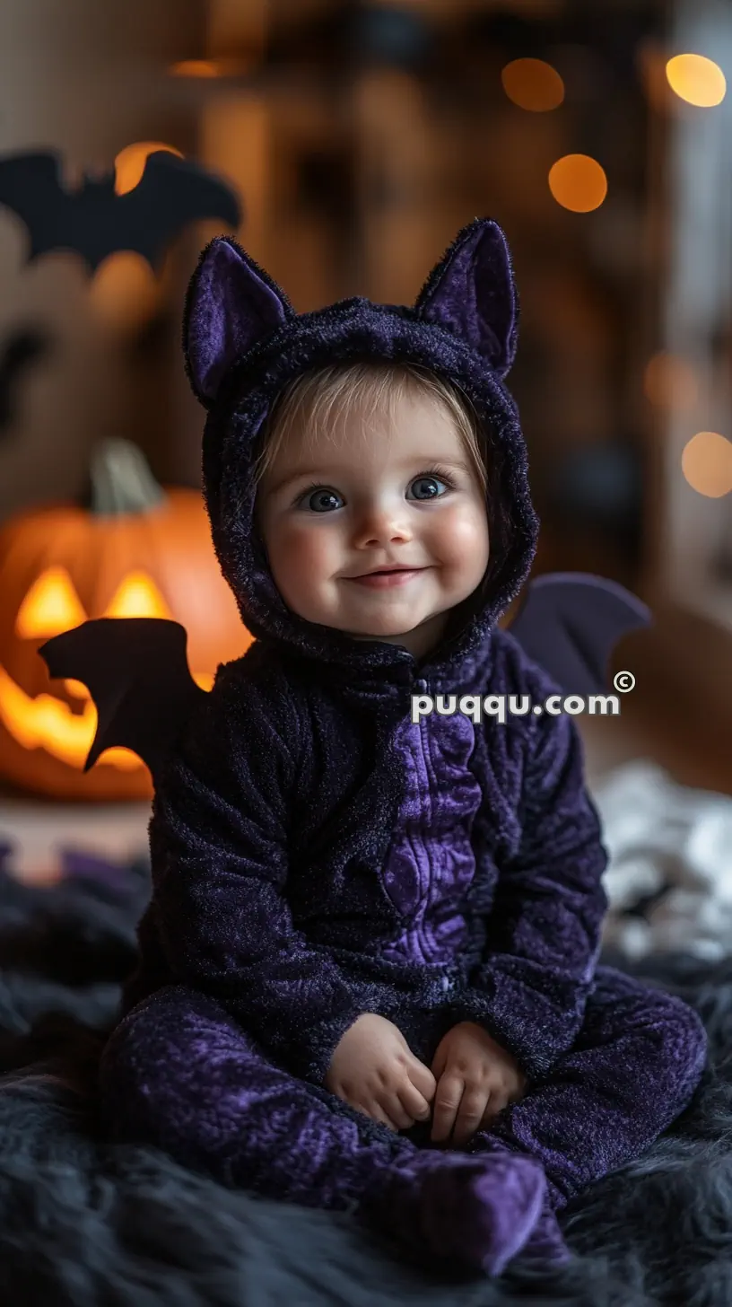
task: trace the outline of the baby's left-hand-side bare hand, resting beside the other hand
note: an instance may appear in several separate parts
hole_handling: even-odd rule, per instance
[[[366,1012],[340,1040],[325,1089],[371,1120],[404,1131],[429,1119],[435,1078],[397,1026]]]

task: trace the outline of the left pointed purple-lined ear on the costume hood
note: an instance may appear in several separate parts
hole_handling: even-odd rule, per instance
[[[216,237],[191,277],[183,312],[186,371],[209,408],[225,372],[295,316],[284,290],[230,237]]]

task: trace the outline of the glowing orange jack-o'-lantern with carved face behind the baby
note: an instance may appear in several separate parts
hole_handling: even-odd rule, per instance
[[[92,468],[89,507],[43,507],[0,528],[0,775],[58,799],[149,799],[127,749],[82,767],[97,710],[77,681],[51,685],[38,647],[94,617],[173,617],[188,664],[210,689],[218,663],[251,644],[210,540],[201,495],[162,490],[142,455],[108,440]]]

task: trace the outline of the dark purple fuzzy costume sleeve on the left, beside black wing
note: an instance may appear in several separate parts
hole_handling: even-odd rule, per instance
[[[297,740],[285,741],[286,723],[278,729],[243,691],[214,687],[157,788],[158,937],[175,982],[210,995],[293,1074],[322,1084],[369,995],[293,924]]]

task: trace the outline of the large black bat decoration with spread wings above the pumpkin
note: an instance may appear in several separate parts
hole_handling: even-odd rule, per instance
[[[149,154],[140,182],[124,195],[115,193],[111,171],[67,190],[60,162],[60,154],[48,150],[0,157],[0,204],[30,233],[27,263],[69,250],[94,272],[114,251],[133,250],[157,269],[166,246],[188,222],[218,218],[238,227],[242,221],[226,182],[169,150]]]

